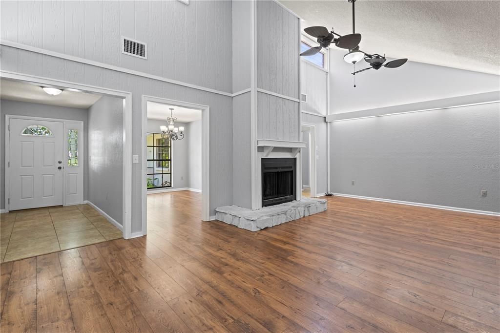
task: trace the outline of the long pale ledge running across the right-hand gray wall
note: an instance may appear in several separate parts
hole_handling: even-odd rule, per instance
[[[458,97],[426,100],[409,104],[392,105],[380,108],[328,114],[326,116],[326,121],[335,122],[335,121],[345,121],[353,119],[363,119],[363,118],[379,117],[384,115],[432,111],[432,110],[489,104],[497,102],[500,102],[500,90],[482,92],[482,93],[476,93]]]

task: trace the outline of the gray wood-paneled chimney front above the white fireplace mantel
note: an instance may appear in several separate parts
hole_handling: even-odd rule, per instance
[[[299,18],[274,1],[256,4],[257,88],[299,98]],[[257,138],[299,140],[298,101],[257,93]]]

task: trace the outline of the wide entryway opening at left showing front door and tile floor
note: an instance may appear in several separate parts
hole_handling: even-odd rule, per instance
[[[127,94],[17,73],[0,83],[0,260],[124,236]]]

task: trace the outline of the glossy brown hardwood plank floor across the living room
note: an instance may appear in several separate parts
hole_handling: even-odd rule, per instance
[[[327,199],[250,232],[148,195],[145,237],[2,264],[1,331],[500,331],[500,218]]]

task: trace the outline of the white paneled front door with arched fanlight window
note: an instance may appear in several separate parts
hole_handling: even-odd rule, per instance
[[[9,210],[63,202],[63,123],[10,118]]]

